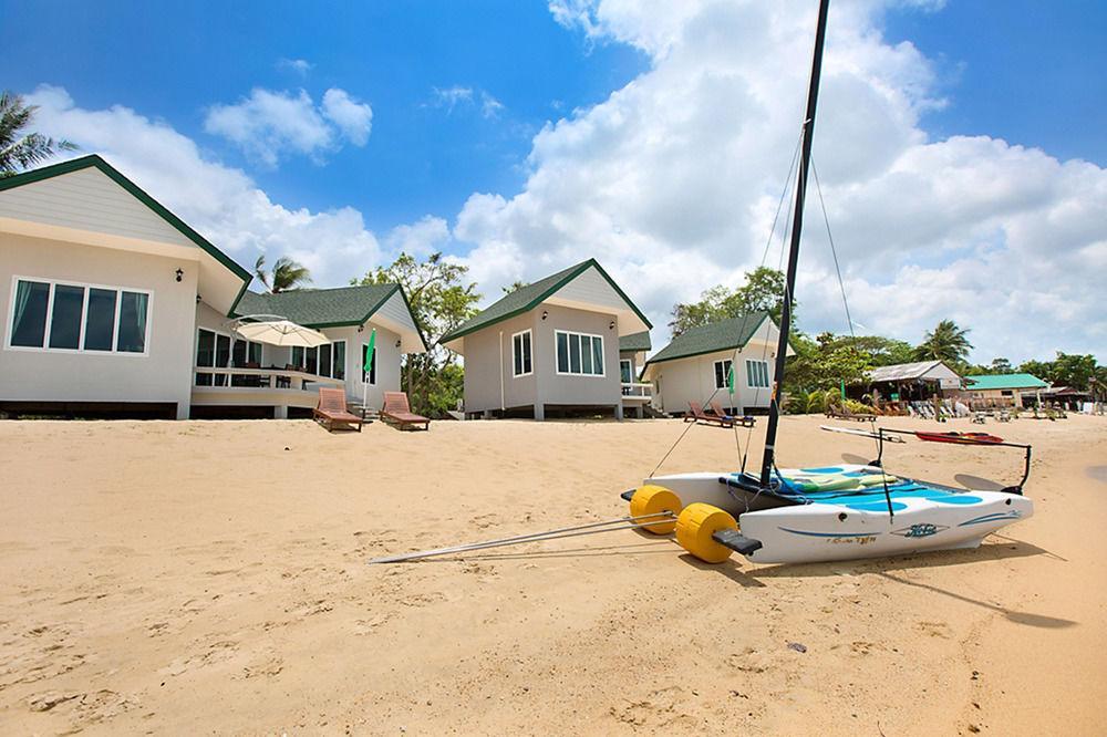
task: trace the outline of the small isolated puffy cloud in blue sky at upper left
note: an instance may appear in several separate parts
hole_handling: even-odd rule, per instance
[[[363,146],[372,128],[373,111],[340,89],[323,94],[317,107],[307,92],[278,92],[255,87],[234,105],[214,105],[204,129],[239,146],[251,159],[276,167],[287,154],[302,154],[320,162],[340,147],[340,136]]]

